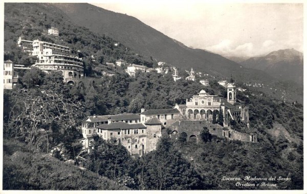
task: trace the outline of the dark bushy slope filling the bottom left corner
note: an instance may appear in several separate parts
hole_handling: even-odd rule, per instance
[[[4,139],[3,189],[5,190],[127,190],[85,168],[43,153],[29,157],[28,145]],[[93,181],[95,180],[95,181]]]

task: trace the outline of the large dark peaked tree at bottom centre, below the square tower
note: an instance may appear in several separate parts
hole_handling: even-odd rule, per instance
[[[199,189],[201,177],[173,146],[169,137],[161,137],[157,149],[144,156],[144,189],[174,190]]]

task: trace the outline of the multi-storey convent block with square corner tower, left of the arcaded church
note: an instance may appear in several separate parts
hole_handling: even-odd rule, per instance
[[[141,122],[140,114],[89,116],[82,122],[85,150],[91,148],[94,135],[102,139],[114,139],[121,143],[131,155],[142,156],[156,149],[163,125],[157,117]]]

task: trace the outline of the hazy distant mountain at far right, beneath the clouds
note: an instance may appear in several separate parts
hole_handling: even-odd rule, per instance
[[[280,80],[303,84],[303,54],[293,48],[274,51],[264,57],[252,57],[240,64],[266,71]]]

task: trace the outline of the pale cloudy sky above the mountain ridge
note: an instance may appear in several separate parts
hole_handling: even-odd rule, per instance
[[[223,56],[303,52],[303,4],[117,2],[95,6],[134,16],[187,46]]]

